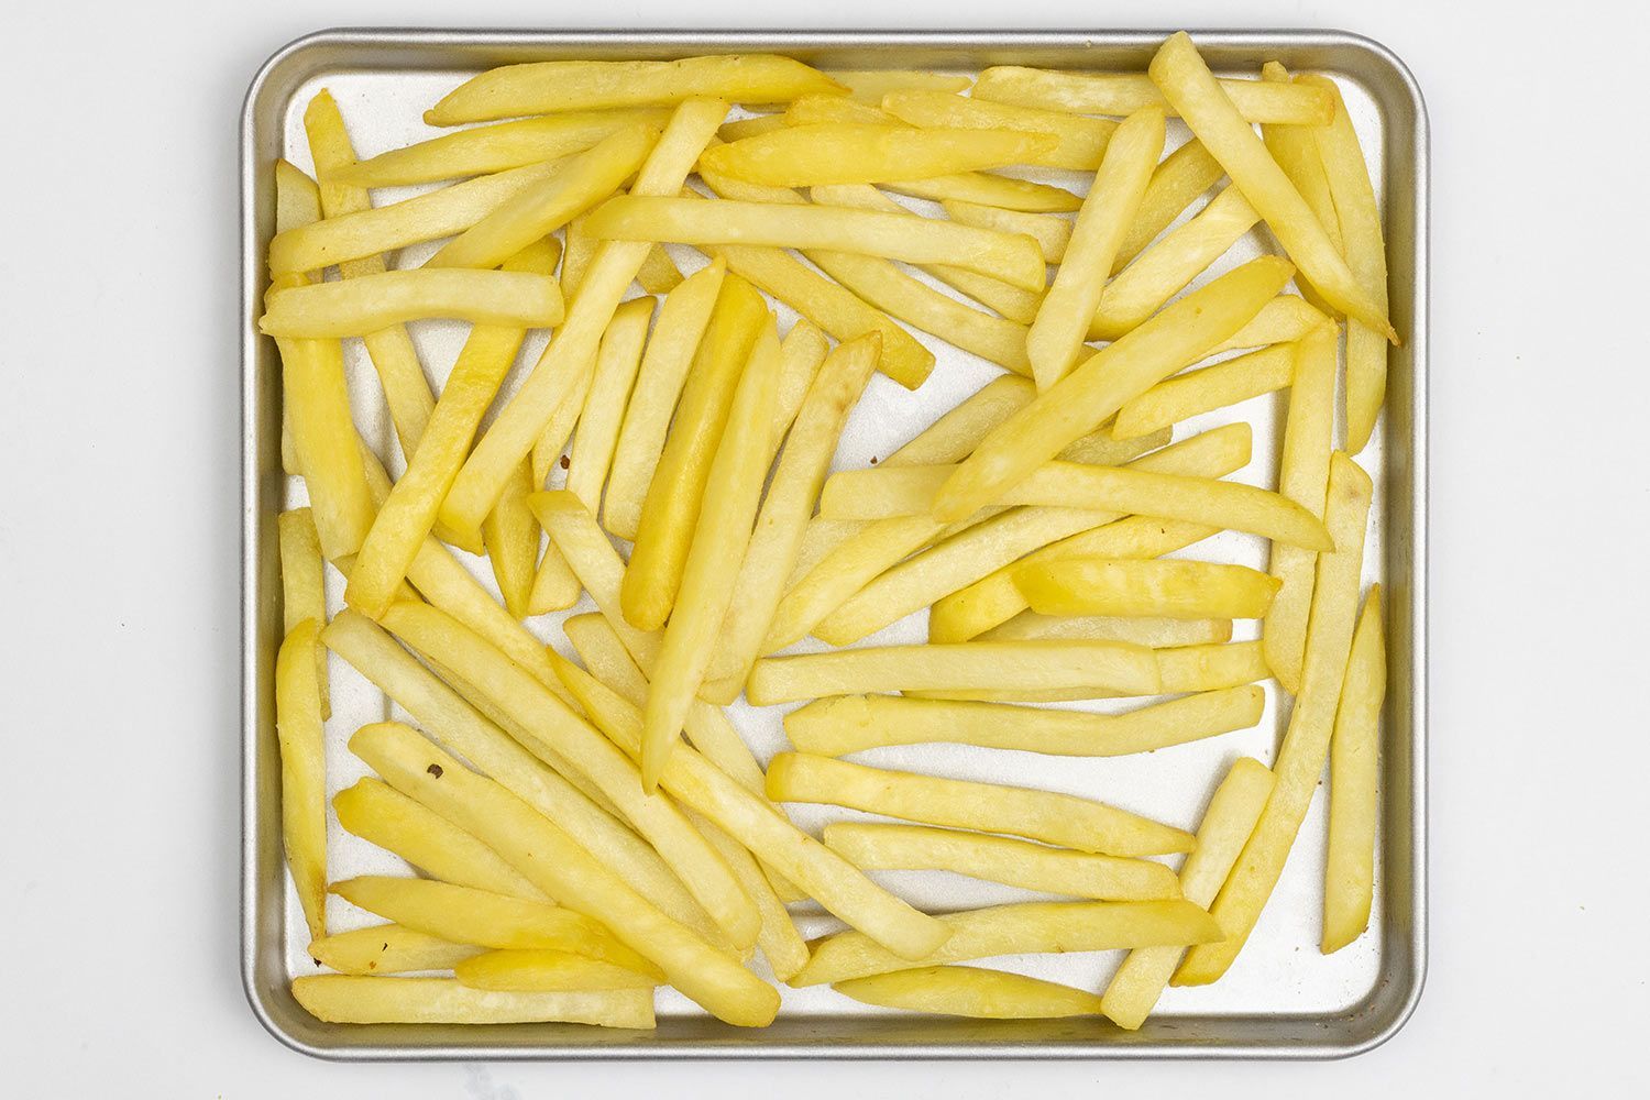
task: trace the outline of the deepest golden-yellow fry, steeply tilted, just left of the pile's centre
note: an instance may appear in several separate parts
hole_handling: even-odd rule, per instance
[[[683,386],[624,576],[624,617],[639,630],[663,627],[676,604],[716,444],[764,327],[771,330],[772,322],[762,295],[744,279],[724,279],[711,330],[701,343],[703,368]],[[777,350],[776,340],[776,358]]]

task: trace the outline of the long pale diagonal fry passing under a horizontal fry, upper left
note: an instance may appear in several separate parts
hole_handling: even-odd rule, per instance
[[[723,101],[690,99],[676,107],[630,193],[676,195],[726,112],[728,104]],[[533,450],[556,407],[594,369],[601,336],[645,259],[647,247],[640,242],[597,247],[589,272],[573,294],[566,323],[551,338],[515,397],[477,442],[447,491],[441,518],[449,528],[470,531],[480,526],[482,516],[503,493],[515,463]]]

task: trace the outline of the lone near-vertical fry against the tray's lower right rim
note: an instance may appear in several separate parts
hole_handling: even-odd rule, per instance
[[[1381,703],[1386,699],[1386,637],[1381,585],[1370,589],[1351,638],[1346,679],[1330,740],[1330,836],[1323,866],[1323,953],[1346,947],[1370,927],[1374,900],[1374,828],[1381,764]]]

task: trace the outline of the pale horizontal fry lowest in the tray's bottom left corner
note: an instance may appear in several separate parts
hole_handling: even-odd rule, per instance
[[[653,1027],[648,990],[597,993],[493,993],[455,978],[305,975],[292,996],[328,1024],[538,1024]]]

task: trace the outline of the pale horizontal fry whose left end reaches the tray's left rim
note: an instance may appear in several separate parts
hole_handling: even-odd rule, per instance
[[[502,270],[386,270],[348,282],[276,290],[259,331],[271,336],[360,336],[424,317],[543,328],[561,323],[561,287],[548,275]],[[431,401],[434,406],[434,401]]]

